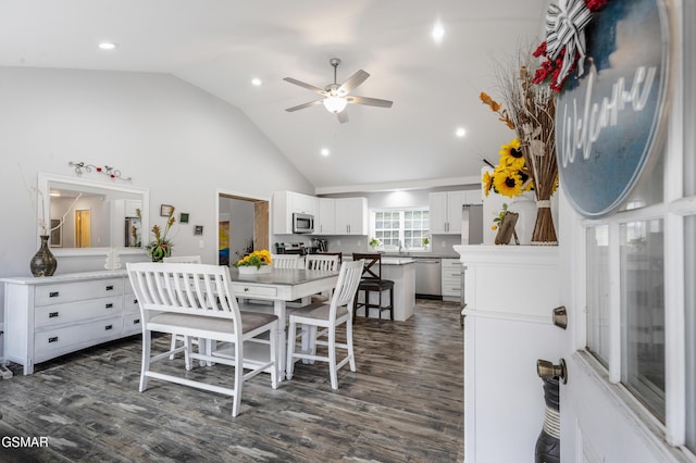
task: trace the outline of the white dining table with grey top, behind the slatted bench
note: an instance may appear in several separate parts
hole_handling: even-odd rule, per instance
[[[232,290],[239,300],[262,300],[273,302],[273,313],[278,317],[276,333],[278,379],[285,378],[285,355],[287,348],[286,311],[287,302],[312,295],[331,291],[338,281],[338,272],[300,268],[272,268],[265,274],[240,274],[235,267],[229,270]],[[263,312],[264,306],[243,303],[240,310]]]

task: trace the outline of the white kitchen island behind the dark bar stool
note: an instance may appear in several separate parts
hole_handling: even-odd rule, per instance
[[[394,281],[394,320],[405,322],[413,315],[415,306],[415,259],[412,258],[382,258],[382,278]],[[359,292],[363,298],[364,293]],[[370,302],[378,301],[376,293],[371,295]],[[383,300],[388,296],[383,296]],[[361,301],[363,299],[360,299]],[[376,311],[373,311],[375,314]],[[364,308],[358,310],[358,316],[364,316]],[[375,315],[376,316],[376,315]],[[382,318],[388,318],[387,311],[382,312]]]

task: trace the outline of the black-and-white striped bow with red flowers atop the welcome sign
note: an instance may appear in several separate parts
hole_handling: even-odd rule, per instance
[[[585,73],[585,27],[592,22],[593,13],[601,10],[608,1],[559,0],[558,4],[549,4],[546,40],[532,53],[535,58],[545,59],[534,73],[533,84],[548,84],[551,90],[560,93],[574,71],[577,71],[577,77]]]

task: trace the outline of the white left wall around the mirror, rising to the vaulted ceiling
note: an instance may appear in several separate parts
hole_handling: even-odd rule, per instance
[[[39,172],[76,175],[70,161],[113,166],[133,177],[128,184],[150,189],[150,225],[164,224],[161,203],[190,214],[170,235],[174,253],[201,254],[207,263],[216,262],[216,188],[262,198],[313,191],[241,111],[165,74],[0,67],[0,277],[29,276],[38,249],[22,173],[36,186]],[[204,226],[202,237],[194,236],[195,225]],[[61,258],[57,275],[103,263]]]

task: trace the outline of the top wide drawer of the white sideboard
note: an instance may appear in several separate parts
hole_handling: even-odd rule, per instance
[[[37,286],[34,293],[34,304],[60,304],[110,296],[123,296],[123,278]]]

